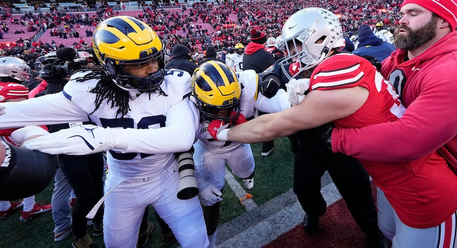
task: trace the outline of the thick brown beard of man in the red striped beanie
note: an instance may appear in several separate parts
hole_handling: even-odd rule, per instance
[[[438,18],[436,16],[432,16],[430,21],[425,24],[424,26],[413,30],[407,26],[401,24],[394,32],[394,45],[396,48],[400,48],[406,51],[410,51],[421,47],[422,45],[429,42],[436,36],[436,24],[438,22]],[[408,33],[402,34],[398,33],[399,29],[404,29]]]

